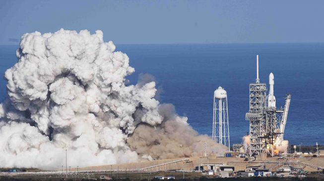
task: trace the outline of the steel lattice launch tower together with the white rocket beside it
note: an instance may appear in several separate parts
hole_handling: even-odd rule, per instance
[[[266,84],[259,80],[259,55],[257,55],[257,79],[250,84],[249,112],[246,120],[250,122],[250,156],[267,153],[275,154],[277,146],[283,144],[284,128],[290,103],[290,94],[287,94],[284,109],[276,109],[273,95],[274,77],[269,75],[269,95],[266,95]]]

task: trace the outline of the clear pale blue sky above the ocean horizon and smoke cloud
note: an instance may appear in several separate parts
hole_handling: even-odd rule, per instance
[[[115,44],[324,42],[324,0],[0,0],[0,45],[87,29]]]

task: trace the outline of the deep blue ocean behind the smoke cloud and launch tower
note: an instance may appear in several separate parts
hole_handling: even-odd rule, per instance
[[[0,46],[0,74],[13,66],[17,46]],[[241,143],[249,132],[249,83],[256,80],[259,54],[260,82],[268,84],[274,74],[277,107],[292,94],[284,139],[290,144],[324,144],[324,44],[193,44],[117,45],[130,57],[136,84],[140,73],[155,77],[162,90],[160,102],[172,103],[187,116],[199,134],[211,136],[213,91],[227,91],[230,141]],[[0,98],[6,96],[0,80]],[[268,85],[267,85],[268,86]]]

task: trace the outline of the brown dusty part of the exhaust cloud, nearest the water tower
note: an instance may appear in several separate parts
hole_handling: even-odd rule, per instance
[[[150,155],[157,159],[203,156],[206,153],[221,153],[226,147],[215,144],[208,136],[198,136],[187,123],[187,117],[175,114],[172,104],[162,104],[159,113],[164,121],[159,127],[139,125],[128,143],[139,155]]]

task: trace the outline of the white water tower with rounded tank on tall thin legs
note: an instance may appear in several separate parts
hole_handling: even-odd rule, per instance
[[[230,133],[228,127],[227,93],[222,87],[214,91],[213,135],[218,143],[230,151]]]

